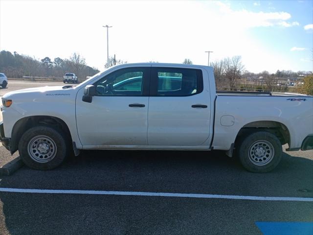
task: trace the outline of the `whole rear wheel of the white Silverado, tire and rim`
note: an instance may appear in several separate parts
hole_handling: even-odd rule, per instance
[[[242,138],[236,152],[246,170],[266,173],[279,164],[282,144],[275,135],[267,131],[257,131]]]

